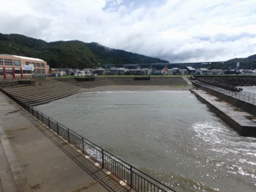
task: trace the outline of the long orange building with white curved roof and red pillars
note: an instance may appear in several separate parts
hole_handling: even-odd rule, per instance
[[[23,78],[32,74],[48,74],[49,65],[44,60],[0,54],[0,79]]]

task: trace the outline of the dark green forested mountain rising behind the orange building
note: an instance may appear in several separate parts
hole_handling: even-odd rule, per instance
[[[44,40],[30,38],[19,34],[4,35],[0,33],[0,54],[15,54],[40,58],[52,67],[98,67],[99,63],[134,64],[134,63],[168,63],[160,60],[104,47],[97,43],[84,43],[78,40],[47,43]]]

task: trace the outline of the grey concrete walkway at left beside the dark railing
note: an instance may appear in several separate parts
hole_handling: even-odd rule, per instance
[[[127,191],[0,92],[0,191]]]

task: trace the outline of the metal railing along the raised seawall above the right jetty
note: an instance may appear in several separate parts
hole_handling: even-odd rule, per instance
[[[211,84],[207,84],[207,83],[202,83],[200,81],[194,81],[193,83],[199,84],[200,86],[205,86],[205,87],[215,90],[217,92],[221,92],[221,93],[224,93],[231,97],[235,97],[237,99],[243,100],[244,102],[250,102],[251,104],[256,105],[256,93],[245,92],[245,91],[232,92],[231,90],[226,90],[224,88],[214,86]]]

